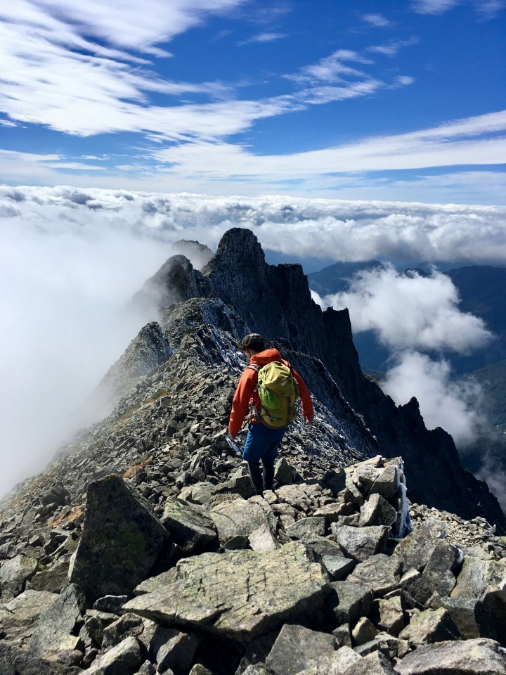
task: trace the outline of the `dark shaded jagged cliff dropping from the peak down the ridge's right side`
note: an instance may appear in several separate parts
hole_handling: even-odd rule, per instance
[[[299,264],[267,264],[254,233],[233,228],[223,235],[202,274],[189,270],[187,262],[184,266],[188,297],[219,297],[233,307],[248,330],[285,340],[287,346],[325,364],[346,401],[377,437],[380,451],[401,455],[409,463],[408,489],[415,501],[467,519],[488,518],[506,532],[497,499],[484,481],[462,468],[450,435],[440,428],[427,430],[415,399],[396,406],[365,377],[353,346],[348,311],[321,311],[311,299]]]

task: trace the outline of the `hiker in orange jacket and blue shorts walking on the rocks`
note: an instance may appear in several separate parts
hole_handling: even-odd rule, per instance
[[[266,349],[266,342],[268,340],[259,333],[250,333],[242,340],[239,349],[245,352],[249,364],[235,391],[228,422],[228,432],[235,438],[249,410],[249,430],[242,458],[247,461],[254,491],[260,495],[264,490],[273,489],[274,460],[287,426],[297,415],[295,401],[299,397],[305,423],[311,424],[314,417],[306,383],[288,361],[281,358],[278,349]]]

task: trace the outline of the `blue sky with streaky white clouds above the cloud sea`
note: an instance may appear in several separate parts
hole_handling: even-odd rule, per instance
[[[506,203],[504,1],[7,5],[5,184]]]

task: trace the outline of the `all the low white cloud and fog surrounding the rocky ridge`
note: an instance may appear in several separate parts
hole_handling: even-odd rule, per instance
[[[239,226],[287,258],[506,262],[506,207],[3,186],[0,217],[0,494],[81,423],[76,411],[145,320],[122,307],[176,240],[216,250]],[[479,387],[455,382],[438,352],[468,353],[491,335],[458,309],[446,276],[387,265],[316,300],[349,307],[354,331],[377,332],[396,403],[414,395],[429,428],[461,446],[475,437]]]

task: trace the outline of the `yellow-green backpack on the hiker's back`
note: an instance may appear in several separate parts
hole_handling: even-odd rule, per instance
[[[252,406],[252,416],[266,427],[281,429],[287,427],[297,417],[295,402],[299,398],[299,389],[292,371],[279,361],[272,361],[263,368],[247,366],[258,373],[258,392],[261,410]]]

